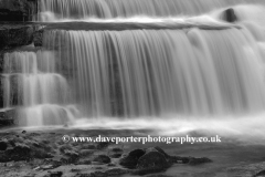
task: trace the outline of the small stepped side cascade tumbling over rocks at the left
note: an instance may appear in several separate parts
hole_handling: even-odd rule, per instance
[[[66,80],[55,73],[52,52],[4,54],[4,107],[19,111],[20,125],[61,125],[68,121]]]

